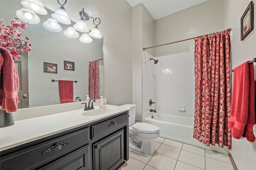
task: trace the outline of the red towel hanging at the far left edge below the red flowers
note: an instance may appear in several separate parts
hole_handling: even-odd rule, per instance
[[[0,105],[6,112],[17,111],[19,76],[10,52],[0,47]]]

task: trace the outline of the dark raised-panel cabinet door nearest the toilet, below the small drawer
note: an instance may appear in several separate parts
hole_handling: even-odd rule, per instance
[[[124,130],[93,144],[94,170],[114,170],[124,162]]]

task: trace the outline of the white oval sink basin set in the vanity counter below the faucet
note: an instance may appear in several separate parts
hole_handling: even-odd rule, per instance
[[[87,111],[79,110],[79,111],[76,111],[74,114],[83,115],[83,116],[97,116],[97,115],[104,115],[104,114],[112,113],[117,109],[118,109],[117,107],[108,106],[104,109],[95,108],[95,109],[87,110]]]

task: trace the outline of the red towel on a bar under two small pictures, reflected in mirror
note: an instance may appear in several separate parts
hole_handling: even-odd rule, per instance
[[[73,102],[73,81],[59,80],[60,103]]]

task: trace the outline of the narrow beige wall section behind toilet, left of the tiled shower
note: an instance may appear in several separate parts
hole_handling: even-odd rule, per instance
[[[141,3],[132,8],[132,39],[133,104],[136,119],[142,121],[142,48],[154,45],[154,19]]]

